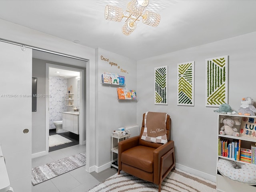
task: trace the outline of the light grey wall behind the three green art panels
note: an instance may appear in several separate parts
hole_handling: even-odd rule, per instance
[[[256,100],[256,32],[138,61],[137,124],[146,111],[168,112],[172,119],[178,167],[214,180],[217,108],[205,107],[205,59],[229,56],[228,104],[238,110],[242,97]],[[195,61],[194,106],[177,106],[177,64]],[[154,67],[168,65],[168,105],[154,105]],[[203,173],[202,173],[203,172]],[[209,174],[209,175],[207,175]]]

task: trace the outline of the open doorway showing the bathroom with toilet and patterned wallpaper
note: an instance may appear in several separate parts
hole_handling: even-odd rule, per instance
[[[84,70],[46,63],[48,151],[84,144]],[[47,107],[48,106],[48,107]]]

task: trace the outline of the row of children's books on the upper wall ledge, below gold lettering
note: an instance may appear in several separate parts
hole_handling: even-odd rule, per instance
[[[117,73],[105,72],[101,77],[102,83],[125,86],[125,77],[119,76]]]

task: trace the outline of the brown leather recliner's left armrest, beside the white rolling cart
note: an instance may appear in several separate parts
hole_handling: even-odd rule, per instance
[[[122,140],[118,143],[118,169],[121,169],[121,154],[122,152],[133,148],[135,146],[138,146],[139,144],[140,136],[135,136],[132,138],[128,138],[126,140]]]

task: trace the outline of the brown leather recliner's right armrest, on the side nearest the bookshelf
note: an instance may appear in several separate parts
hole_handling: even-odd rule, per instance
[[[174,148],[174,141],[170,140],[166,144],[156,148],[153,152],[153,160],[154,160],[154,183],[159,183],[159,175],[160,175],[160,163],[161,157],[166,154],[168,151]],[[172,160],[174,162],[174,160]],[[171,166],[166,165],[166,166]]]

